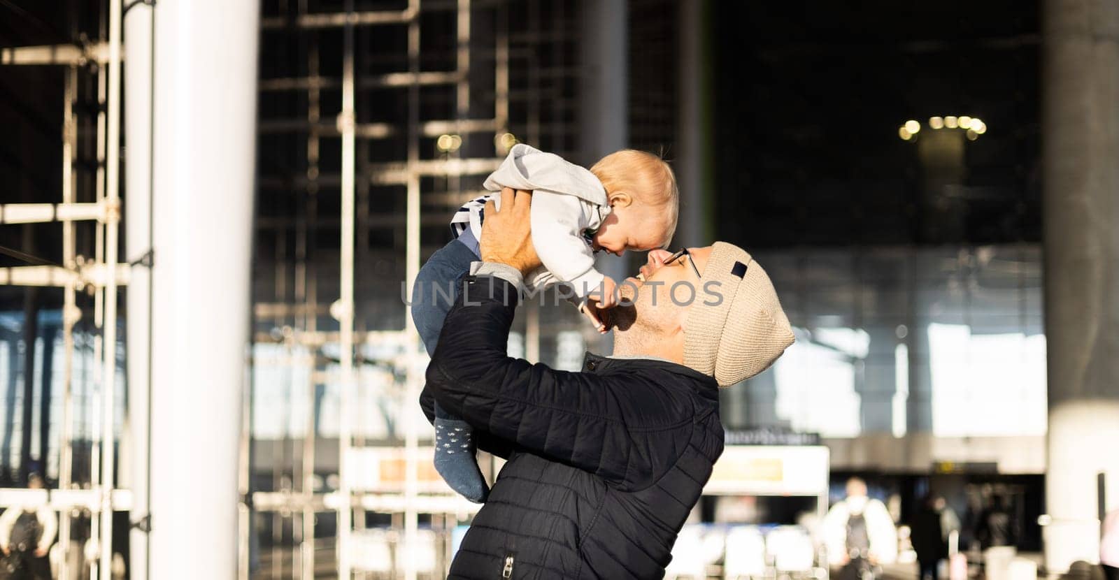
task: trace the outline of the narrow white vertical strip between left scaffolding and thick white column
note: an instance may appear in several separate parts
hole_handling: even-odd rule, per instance
[[[124,16],[124,259],[134,260],[151,248],[151,26],[153,10],[140,3]],[[148,389],[151,305],[151,274],[132,268],[128,299],[128,386],[129,409],[125,421],[128,451],[122,454],[123,485],[132,491],[135,522],[148,514]],[[148,580],[148,534],[140,529],[129,533],[130,578]]]

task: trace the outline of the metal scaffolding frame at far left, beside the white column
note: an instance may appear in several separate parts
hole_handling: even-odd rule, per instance
[[[120,114],[121,114],[121,0],[107,2],[100,40],[85,45],[15,47],[0,50],[0,66],[60,66],[63,75],[63,132],[62,143],[62,201],[60,203],[4,203],[0,205],[0,225],[35,225],[60,222],[63,232],[62,265],[35,265],[0,268],[0,285],[25,287],[56,287],[63,289],[63,409],[60,420],[59,466],[57,489],[0,489],[0,506],[46,505],[59,513],[58,577],[63,580],[81,577],[72,567],[72,557],[82,561],[82,553],[91,550],[97,557],[88,561],[90,578],[110,580],[113,577],[112,519],[114,512],[129,511],[131,492],[116,486],[115,426],[119,417],[114,406],[116,386],[116,327],[117,289],[128,284],[131,266],[119,264],[120,255]],[[107,25],[107,34],[106,34]],[[96,82],[96,121],[90,123],[77,111],[81,84]],[[96,143],[96,165],[93,200],[79,201],[78,179],[82,146],[79,137],[92,127]],[[88,193],[88,192],[87,192]],[[78,224],[94,227],[94,247],[79,248],[76,232]],[[92,251],[91,251],[92,250]],[[90,253],[91,255],[83,255]],[[91,291],[93,312],[78,305],[79,291]],[[74,474],[74,421],[76,401],[73,392],[75,327],[92,314],[95,329],[94,359],[100,362],[94,386],[100,394],[97,407],[90,479],[78,482]],[[45,364],[49,362],[45,361]],[[50,384],[43,384],[49,389]],[[23,401],[31,405],[30,400]],[[100,411],[100,413],[97,412]],[[46,446],[47,441],[43,441]],[[45,453],[45,451],[43,451]],[[84,488],[83,488],[84,487]],[[73,517],[78,513],[91,514],[90,544],[74,546]],[[83,549],[84,548],[84,549]],[[75,554],[75,550],[77,553]]]

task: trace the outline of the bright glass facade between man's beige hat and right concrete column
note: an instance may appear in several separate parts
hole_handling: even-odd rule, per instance
[[[1037,245],[764,250],[797,342],[724,420],[825,437],[1045,434]]]

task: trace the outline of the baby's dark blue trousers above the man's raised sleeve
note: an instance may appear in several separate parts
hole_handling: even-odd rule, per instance
[[[416,274],[412,287],[412,321],[416,323],[429,355],[435,353],[443,320],[462,294],[462,278],[470,273],[470,263],[477,259],[478,255],[466,243],[453,239],[435,250]]]

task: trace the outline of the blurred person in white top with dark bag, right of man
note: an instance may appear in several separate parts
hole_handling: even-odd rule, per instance
[[[897,559],[897,530],[881,501],[868,497],[866,482],[847,481],[847,497],[824,517],[824,545],[841,578],[874,576],[880,564]]]

